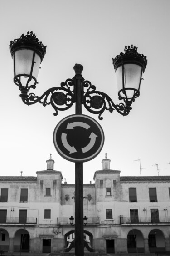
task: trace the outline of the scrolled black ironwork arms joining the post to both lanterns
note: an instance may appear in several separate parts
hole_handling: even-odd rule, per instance
[[[116,105],[106,93],[96,91],[96,87],[92,85],[91,82],[87,80],[84,81],[83,77],[80,79],[82,81],[82,104],[89,112],[98,114],[99,120],[103,119],[101,115],[105,110],[108,110],[110,113],[112,113],[113,110],[117,110],[117,112],[123,116],[129,114],[132,101],[126,102],[126,105],[123,103]],[[75,85],[76,76],[73,77],[73,79],[67,79],[65,82],[62,82],[61,87],[48,89],[40,97],[36,96],[34,93],[27,94],[28,91],[24,91],[24,88],[20,86],[19,89],[22,92],[20,97],[26,105],[39,102],[45,107],[51,104],[55,110],[53,114],[57,116],[58,110],[67,110],[76,102]]]

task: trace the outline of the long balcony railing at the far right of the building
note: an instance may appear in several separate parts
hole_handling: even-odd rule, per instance
[[[170,217],[159,217],[159,218],[151,218],[151,217],[120,217],[120,224],[156,224],[156,223],[170,223]]]

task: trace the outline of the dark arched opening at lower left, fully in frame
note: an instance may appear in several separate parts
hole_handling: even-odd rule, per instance
[[[14,237],[14,252],[29,252],[29,232],[19,229]]]

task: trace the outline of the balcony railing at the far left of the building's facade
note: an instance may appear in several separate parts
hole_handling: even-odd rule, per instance
[[[7,217],[6,219],[0,218],[0,223],[7,223],[7,224],[36,224],[37,218],[29,217],[29,218],[19,218],[19,217]]]

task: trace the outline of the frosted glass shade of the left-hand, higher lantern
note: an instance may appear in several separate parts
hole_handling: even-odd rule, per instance
[[[15,51],[14,76],[20,77],[22,85],[25,86],[29,77],[37,80],[41,59],[37,53],[29,49]]]

